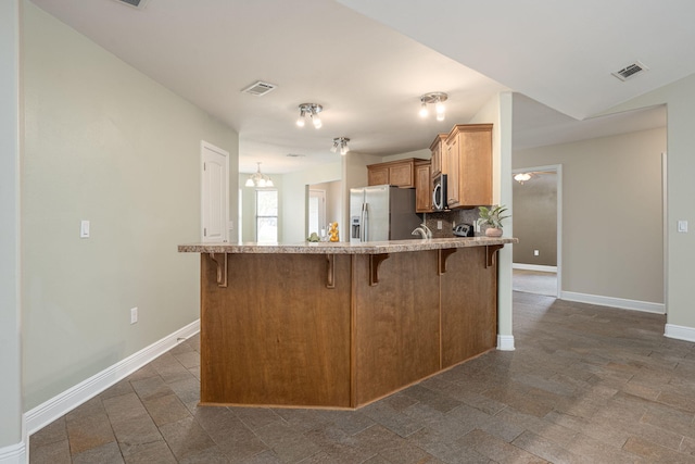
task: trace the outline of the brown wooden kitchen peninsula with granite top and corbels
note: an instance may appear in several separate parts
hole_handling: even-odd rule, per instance
[[[195,243],[201,404],[354,409],[493,349],[514,238]]]

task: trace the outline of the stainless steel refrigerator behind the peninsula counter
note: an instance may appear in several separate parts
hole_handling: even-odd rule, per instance
[[[415,189],[388,185],[350,189],[350,242],[416,238]]]

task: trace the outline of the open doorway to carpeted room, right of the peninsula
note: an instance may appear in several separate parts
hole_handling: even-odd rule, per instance
[[[561,292],[563,189],[560,164],[513,171],[515,291],[559,298]]]

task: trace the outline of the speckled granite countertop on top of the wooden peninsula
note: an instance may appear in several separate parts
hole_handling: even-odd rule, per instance
[[[342,241],[303,243],[188,243],[179,244],[178,251],[184,253],[381,254],[518,242],[518,238],[509,237],[452,237],[432,238],[428,240],[368,241],[365,243]]]

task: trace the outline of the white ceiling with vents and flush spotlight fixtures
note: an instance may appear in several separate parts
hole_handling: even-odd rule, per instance
[[[247,173],[336,161],[336,137],[425,149],[503,90],[521,93],[515,148],[664,126],[664,108],[590,116],[695,73],[691,0],[31,1],[232,127]],[[610,75],[634,60],[649,71]],[[241,92],[256,80],[277,88]],[[444,122],[417,115],[431,91],[448,93]],[[295,126],[305,102],[324,106],[320,129]]]

